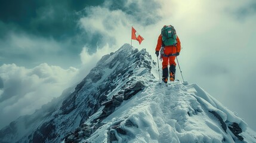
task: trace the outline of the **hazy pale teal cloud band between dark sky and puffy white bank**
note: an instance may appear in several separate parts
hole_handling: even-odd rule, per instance
[[[79,57],[75,57],[79,54],[76,54],[79,47],[71,46],[71,41],[58,42],[53,38],[10,32],[0,39],[0,45],[0,65],[16,63],[34,67],[40,63],[49,63],[69,67],[80,62]]]

